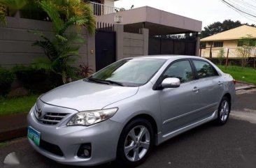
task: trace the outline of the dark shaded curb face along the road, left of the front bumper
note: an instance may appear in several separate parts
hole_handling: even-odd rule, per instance
[[[27,135],[27,127],[17,128],[14,130],[7,130],[0,132],[0,142],[8,141],[18,137],[24,137]]]

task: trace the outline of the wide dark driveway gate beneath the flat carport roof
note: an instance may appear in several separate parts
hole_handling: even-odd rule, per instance
[[[177,55],[195,55],[197,41],[191,39],[175,39],[171,37],[150,37],[148,41],[148,54],[177,54]]]

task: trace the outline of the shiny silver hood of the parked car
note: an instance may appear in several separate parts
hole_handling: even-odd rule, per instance
[[[79,80],[59,86],[41,96],[41,100],[50,105],[85,110],[102,109],[103,107],[134,96],[138,87],[97,84]]]

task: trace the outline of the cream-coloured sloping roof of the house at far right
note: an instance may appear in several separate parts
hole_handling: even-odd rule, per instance
[[[237,40],[247,35],[256,38],[256,27],[253,26],[239,26],[228,31],[223,31],[222,33],[217,33],[213,36],[208,36],[207,38],[202,38],[201,41],[217,41],[217,40]]]

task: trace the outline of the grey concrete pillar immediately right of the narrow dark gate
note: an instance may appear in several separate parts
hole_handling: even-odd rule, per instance
[[[115,24],[115,53],[116,59],[120,60],[124,57],[124,25]]]

